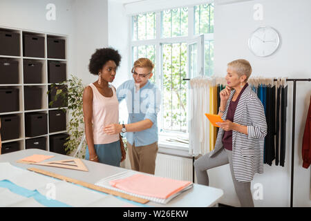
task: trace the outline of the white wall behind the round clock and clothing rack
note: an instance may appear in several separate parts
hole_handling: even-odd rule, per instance
[[[255,3],[263,5],[263,21],[253,19]],[[252,76],[310,78],[310,8],[310,0],[261,0],[216,6],[214,32],[216,75],[225,76],[227,63],[234,59],[243,58],[252,64]],[[249,35],[258,26],[272,26],[281,35],[281,48],[270,57],[255,57],[247,46]],[[264,173],[255,175],[252,187],[256,183],[263,184],[263,200],[254,200],[255,206],[290,206],[292,82],[288,84],[285,167],[265,164]],[[302,136],[310,95],[310,82],[298,82],[296,90],[294,206],[311,206],[310,168],[302,168],[301,158]],[[229,166],[212,169],[209,175],[211,186],[220,187],[225,191],[222,202],[238,206]]]

